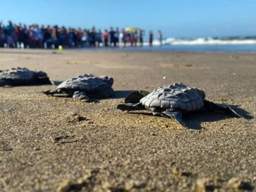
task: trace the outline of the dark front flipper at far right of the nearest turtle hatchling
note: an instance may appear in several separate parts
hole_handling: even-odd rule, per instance
[[[226,114],[229,114],[229,115],[232,115],[232,116],[236,116],[236,117],[241,117],[238,113],[236,113],[236,111],[234,111],[232,108],[230,108],[229,106],[220,106],[220,105],[217,105],[211,101],[208,101],[208,100],[204,100],[204,109],[208,109],[208,110],[212,110],[212,111],[220,111],[220,112],[223,112],[223,113],[226,113]]]

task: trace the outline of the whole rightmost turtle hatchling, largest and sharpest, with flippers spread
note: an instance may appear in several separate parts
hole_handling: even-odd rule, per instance
[[[153,115],[171,117],[184,126],[182,112],[198,111],[200,109],[221,111],[240,117],[229,106],[219,106],[204,99],[205,93],[201,89],[189,87],[182,83],[162,86],[149,93],[135,91],[130,93],[123,104],[117,106],[121,110],[152,111]]]

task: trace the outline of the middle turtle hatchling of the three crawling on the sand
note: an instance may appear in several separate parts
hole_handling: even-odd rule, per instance
[[[46,95],[68,94],[75,99],[91,100],[93,98],[111,97],[114,95],[114,79],[109,76],[84,74],[62,82],[54,90],[43,91]]]

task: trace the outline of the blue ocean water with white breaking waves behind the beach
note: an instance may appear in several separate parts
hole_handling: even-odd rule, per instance
[[[248,52],[256,53],[256,36],[202,37],[202,38],[166,38],[162,46],[158,40],[153,46],[145,41],[143,47],[117,46],[116,48],[95,48],[105,51],[142,51],[142,52]],[[95,50],[92,49],[92,50]]]

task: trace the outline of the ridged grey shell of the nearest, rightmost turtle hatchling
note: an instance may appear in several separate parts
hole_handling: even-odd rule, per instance
[[[198,89],[181,83],[155,89],[140,100],[146,108],[174,108],[184,111],[200,110],[204,98]]]

